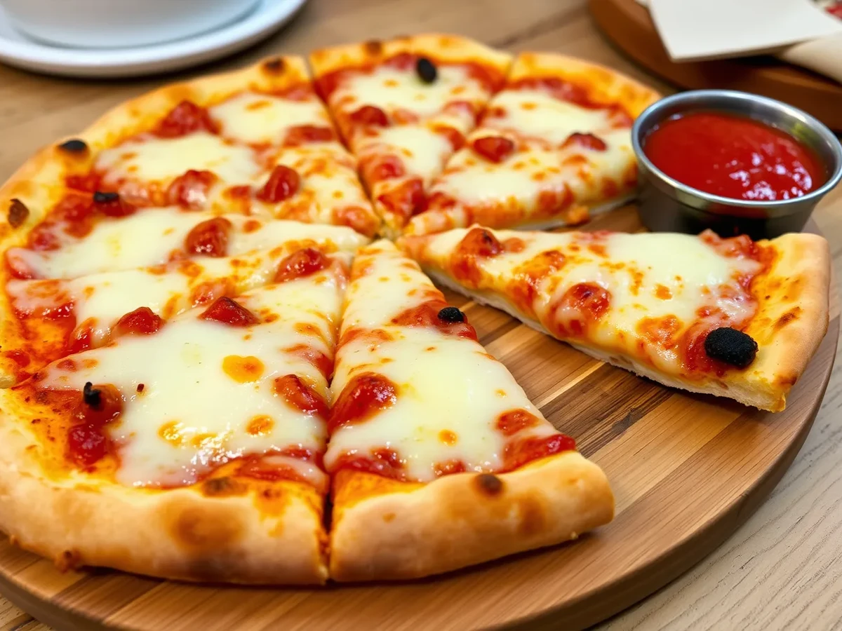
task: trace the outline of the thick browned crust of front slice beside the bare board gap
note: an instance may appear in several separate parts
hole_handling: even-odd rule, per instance
[[[333,490],[335,581],[440,574],[575,539],[614,517],[605,474],[578,452],[426,485],[340,471]]]

